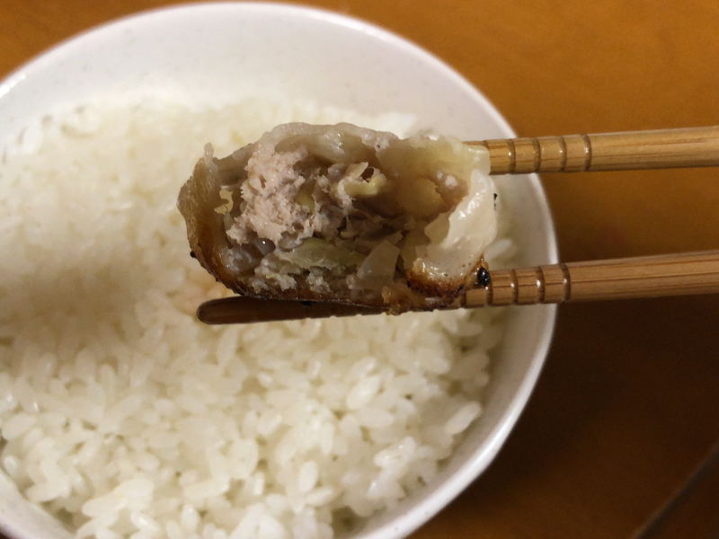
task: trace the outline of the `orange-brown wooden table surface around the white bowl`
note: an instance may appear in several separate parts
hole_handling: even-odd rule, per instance
[[[0,75],[77,31],[161,4],[0,0]],[[716,0],[315,4],[431,50],[520,136],[719,124]],[[543,181],[564,261],[719,248],[717,169]],[[413,537],[719,536],[717,322],[716,296],[563,305],[507,445]]]

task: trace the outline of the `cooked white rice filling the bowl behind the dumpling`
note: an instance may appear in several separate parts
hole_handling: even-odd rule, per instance
[[[0,464],[78,537],[328,539],[431,482],[481,415],[497,310],[195,320],[226,292],[189,256],[179,188],[205,143],[289,120],[412,123],[108,103],[4,149]]]

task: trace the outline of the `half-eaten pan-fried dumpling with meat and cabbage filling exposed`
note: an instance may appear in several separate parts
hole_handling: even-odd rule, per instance
[[[497,231],[489,154],[454,137],[290,123],[218,159],[178,206],[193,255],[246,296],[394,312],[450,304]]]

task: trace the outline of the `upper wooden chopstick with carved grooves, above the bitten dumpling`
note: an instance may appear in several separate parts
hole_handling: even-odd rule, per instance
[[[719,165],[719,126],[468,142],[491,174],[599,172]]]

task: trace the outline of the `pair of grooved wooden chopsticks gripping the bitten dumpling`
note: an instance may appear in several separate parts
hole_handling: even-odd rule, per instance
[[[719,165],[719,126],[493,139],[466,144],[489,150],[491,174]],[[716,293],[719,251],[491,270],[489,276],[487,286],[466,290],[449,308]],[[200,305],[197,315],[204,323],[220,324],[383,312],[379,307],[232,296]]]

